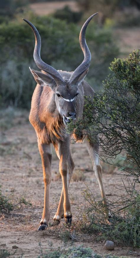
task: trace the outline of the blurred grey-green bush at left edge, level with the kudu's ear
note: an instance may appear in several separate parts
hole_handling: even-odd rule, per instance
[[[34,67],[34,63],[32,67]],[[29,62],[8,60],[0,71],[0,106],[30,108],[35,83],[29,70]]]

